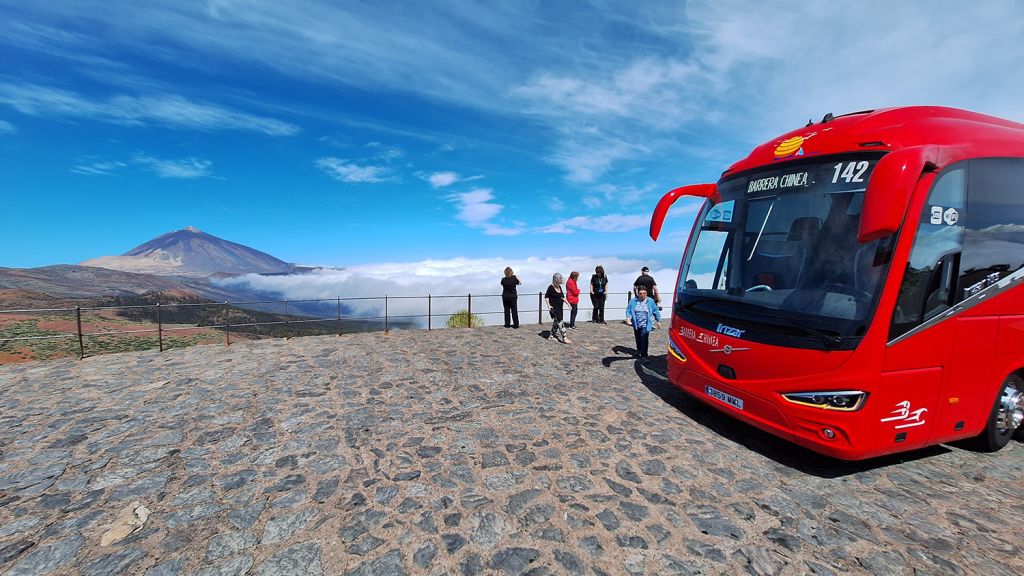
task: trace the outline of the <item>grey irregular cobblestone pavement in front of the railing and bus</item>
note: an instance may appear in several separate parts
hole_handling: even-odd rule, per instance
[[[0,367],[0,575],[1024,573],[1020,443],[837,462],[542,330]]]

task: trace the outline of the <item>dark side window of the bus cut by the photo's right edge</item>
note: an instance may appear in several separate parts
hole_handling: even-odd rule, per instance
[[[970,162],[956,301],[1024,268],[1024,159]]]

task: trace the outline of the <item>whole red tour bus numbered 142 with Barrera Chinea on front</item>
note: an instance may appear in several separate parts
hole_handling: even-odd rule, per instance
[[[1024,419],[1024,124],[934,107],[827,115],[703,198],[673,300],[669,377],[829,456]]]

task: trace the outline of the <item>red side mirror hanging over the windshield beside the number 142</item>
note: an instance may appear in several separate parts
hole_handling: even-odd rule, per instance
[[[937,162],[938,147],[934,146],[914,146],[883,156],[867,180],[857,241],[864,244],[896,234],[918,178],[925,170],[934,170]]]

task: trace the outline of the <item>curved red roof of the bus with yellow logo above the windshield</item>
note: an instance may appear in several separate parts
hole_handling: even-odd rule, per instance
[[[1024,156],[1024,124],[955,108],[914,106],[833,117],[786,132],[754,149],[726,176],[809,156],[892,152],[909,146],[956,147],[950,161],[975,156]]]

